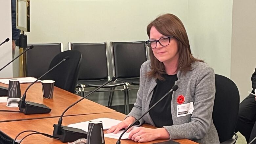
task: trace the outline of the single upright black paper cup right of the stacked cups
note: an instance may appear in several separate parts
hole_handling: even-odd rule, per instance
[[[42,90],[44,98],[53,98],[54,80],[42,80]]]

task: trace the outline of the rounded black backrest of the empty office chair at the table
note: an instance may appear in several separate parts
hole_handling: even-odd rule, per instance
[[[41,80],[54,80],[54,85],[56,87],[74,93],[82,60],[81,52],[69,50],[57,54],[53,58],[49,70],[62,61],[66,56],[69,56],[70,59],[55,67],[51,72],[42,77]]]

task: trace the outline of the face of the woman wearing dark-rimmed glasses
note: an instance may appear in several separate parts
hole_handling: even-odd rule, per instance
[[[153,26],[150,29],[150,39],[159,40],[166,35],[162,35],[157,29]],[[157,42],[157,47],[152,49],[154,56],[164,64],[171,64],[172,62],[177,62],[179,58],[178,54],[178,42],[175,38],[170,39],[170,43],[167,46],[161,46]]]

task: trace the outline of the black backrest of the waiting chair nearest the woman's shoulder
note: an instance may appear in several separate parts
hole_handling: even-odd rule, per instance
[[[142,63],[147,60],[146,43],[110,42],[113,52],[114,75],[117,78],[139,77]]]

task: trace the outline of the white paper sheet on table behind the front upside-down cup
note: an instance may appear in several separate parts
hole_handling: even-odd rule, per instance
[[[103,130],[107,130],[110,127],[115,126],[121,122],[120,120],[111,119],[111,118],[97,118],[90,121],[102,121]],[[89,121],[85,121],[85,122],[70,124],[68,125],[68,127],[77,128],[85,132],[88,132],[88,125],[89,125]]]

